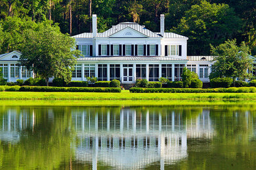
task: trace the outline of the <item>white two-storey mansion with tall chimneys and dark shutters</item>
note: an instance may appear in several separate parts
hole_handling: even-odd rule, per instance
[[[93,33],[81,33],[74,39],[83,54],[77,58],[72,80],[120,80],[133,84],[138,78],[158,81],[160,77],[171,81],[181,79],[182,68],[188,67],[203,82],[209,82],[211,56],[187,56],[188,37],[164,32],[164,15],[161,15],[160,33],[143,25],[123,22],[97,33],[96,15],[93,15]],[[16,65],[20,52],[0,55],[0,67],[8,81],[27,79],[30,71]]]

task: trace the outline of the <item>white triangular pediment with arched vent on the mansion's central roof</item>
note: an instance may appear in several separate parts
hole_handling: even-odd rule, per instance
[[[135,29],[131,27],[125,27],[124,29],[121,29],[117,33],[114,33],[113,35],[110,35],[111,38],[147,38],[148,36],[144,35],[143,33],[140,33],[139,31],[136,31]]]

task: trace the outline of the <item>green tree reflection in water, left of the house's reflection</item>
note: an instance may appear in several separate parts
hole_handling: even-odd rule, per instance
[[[20,141],[16,144],[1,142],[1,165],[11,169],[56,169],[60,163],[70,162],[74,135],[70,130],[70,110],[58,107],[50,113],[49,108],[32,109],[36,115],[35,126],[20,131]]]

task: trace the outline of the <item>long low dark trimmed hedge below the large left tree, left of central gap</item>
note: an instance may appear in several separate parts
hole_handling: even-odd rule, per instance
[[[110,92],[121,93],[120,88],[83,88],[83,87],[49,87],[49,86],[22,86],[20,92]]]

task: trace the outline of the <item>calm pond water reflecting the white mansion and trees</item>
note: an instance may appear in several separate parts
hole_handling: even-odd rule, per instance
[[[0,107],[0,169],[171,168],[256,169],[256,107]]]

